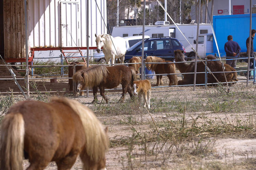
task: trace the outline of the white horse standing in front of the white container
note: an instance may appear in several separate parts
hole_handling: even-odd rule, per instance
[[[114,38],[109,34],[102,34],[102,35],[95,34],[95,37],[96,37],[97,52],[100,53],[100,49],[102,47],[102,52],[104,53],[106,62],[108,64],[110,64],[110,59],[111,59],[111,64],[114,64],[116,58],[120,58],[121,63],[123,63],[124,55],[126,53],[126,43],[122,37]]]

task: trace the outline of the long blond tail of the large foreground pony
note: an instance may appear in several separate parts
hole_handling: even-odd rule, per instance
[[[1,170],[22,170],[24,120],[20,113],[9,113],[1,122]]]

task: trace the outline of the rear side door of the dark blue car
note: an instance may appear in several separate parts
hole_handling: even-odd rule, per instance
[[[170,60],[174,56],[170,39],[156,40],[156,56]]]

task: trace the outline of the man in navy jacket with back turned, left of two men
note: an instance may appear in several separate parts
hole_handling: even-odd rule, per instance
[[[237,58],[237,55],[240,52],[241,48],[236,41],[233,41],[232,35],[228,36],[228,42],[225,43],[224,49],[226,52],[226,59],[232,59],[232,60],[226,60],[226,64],[235,68],[237,60],[234,58]]]

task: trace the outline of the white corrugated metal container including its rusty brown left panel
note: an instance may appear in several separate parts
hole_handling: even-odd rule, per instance
[[[4,0],[5,58],[25,58],[23,2]],[[95,33],[107,33],[106,0],[96,2],[89,0],[88,46],[96,46]],[[29,48],[87,46],[86,0],[27,0],[27,15]]]

